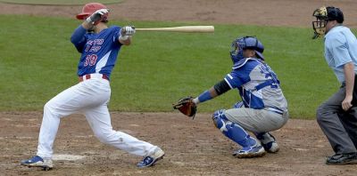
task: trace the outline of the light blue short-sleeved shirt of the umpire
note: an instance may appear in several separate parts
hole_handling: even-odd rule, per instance
[[[350,28],[336,26],[325,36],[325,59],[340,83],[345,81],[344,65],[354,63],[357,74],[357,39]]]

